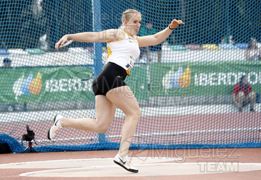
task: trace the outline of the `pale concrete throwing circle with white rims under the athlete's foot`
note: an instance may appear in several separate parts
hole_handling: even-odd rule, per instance
[[[0,165],[1,169],[8,168],[64,168],[19,174],[28,177],[135,177],[135,176],[166,176],[208,174],[221,172],[244,172],[261,170],[261,163],[235,162],[197,162],[171,163],[182,158],[132,158],[132,163],[139,169],[131,173],[113,162],[113,158],[71,159],[55,161],[35,161],[25,163],[10,163]]]

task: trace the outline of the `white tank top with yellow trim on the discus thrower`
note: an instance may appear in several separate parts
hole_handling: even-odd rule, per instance
[[[132,35],[128,34],[123,29],[121,29],[121,32],[123,33],[124,38],[107,42],[107,61],[123,67],[129,75],[134,66],[135,59],[137,59],[140,54],[139,44],[137,39]]]

